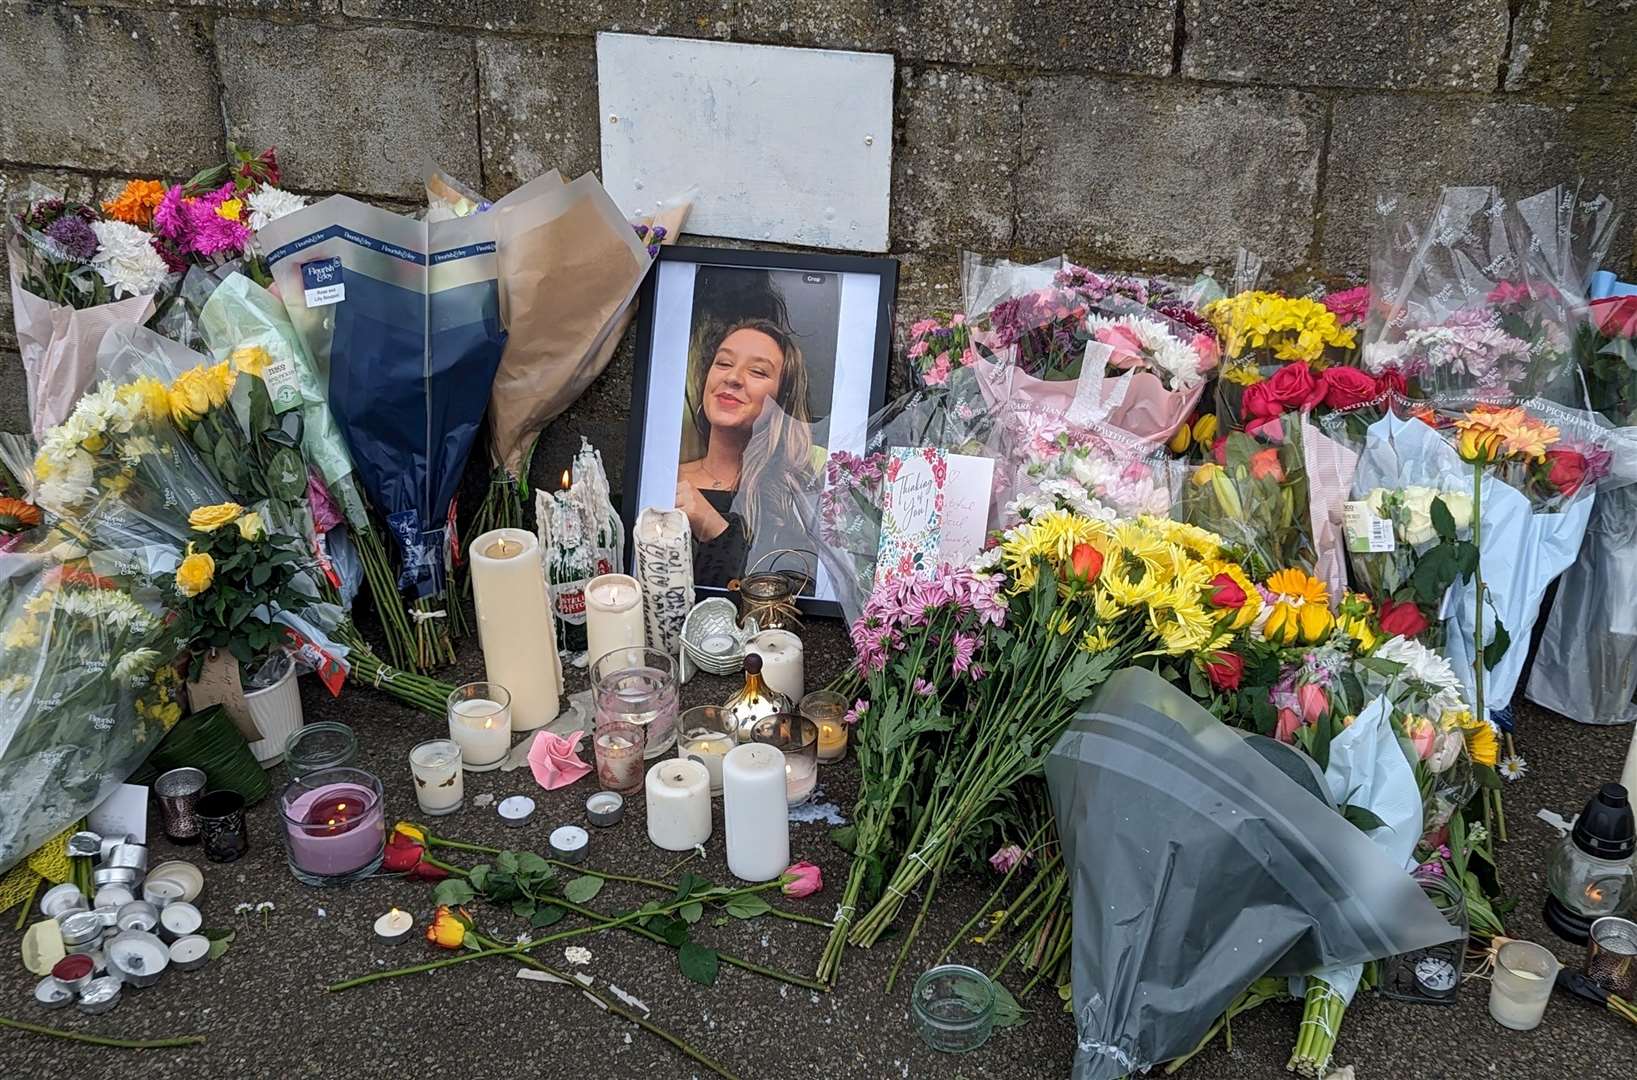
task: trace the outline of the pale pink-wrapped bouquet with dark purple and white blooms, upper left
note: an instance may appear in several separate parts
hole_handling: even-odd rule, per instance
[[[11,306],[39,439],[95,381],[103,334],[146,322],[177,275],[139,226],[41,188],[10,226]]]

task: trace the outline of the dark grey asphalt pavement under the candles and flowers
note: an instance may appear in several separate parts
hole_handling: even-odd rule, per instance
[[[815,622],[805,633],[807,682],[817,687],[848,659],[838,623]],[[481,677],[481,656],[468,640],[457,671],[444,677]],[[583,689],[583,673],[570,674],[570,689]],[[444,725],[367,687],[347,687],[331,699],[316,681],[303,681],[306,717],[350,723],[360,743],[359,764],[383,777],[388,810],[416,818],[408,754],[417,741],[437,736]],[[683,687],[683,705],[722,700],[732,681],[699,677]],[[1545,898],[1545,856],[1557,833],[1536,820],[1540,808],[1570,817],[1603,781],[1617,779],[1630,730],[1591,728],[1536,709],[1522,709],[1519,748],[1529,759],[1526,779],[1504,792],[1511,843],[1501,849],[1501,874],[1516,908],[1508,916],[1514,936],[1552,947],[1565,965],[1578,967],[1583,949],[1555,939],[1540,921]],[[282,767],[273,771],[283,781]],[[584,823],[584,800],[594,779],[545,792],[527,769],[468,774],[467,805],[439,820],[435,831],[468,843],[543,853],[547,835],[565,823]],[[493,807],[475,797],[529,794],[539,810],[512,830]],[[848,758],[820,772],[818,803],[850,813],[856,767]],[[591,831],[589,866],[640,877],[699,874],[730,882],[720,839],[720,802],[715,833],[702,859],[678,867],[679,856],[653,848],[643,828],[640,799],[625,821]],[[792,857],[817,862],[825,889],[807,900],[781,900],[791,910],[828,918],[846,875],[848,857],[827,838],[825,823],[792,823]],[[16,952],[20,934],[11,920],[0,931],[10,962],[0,964],[0,1015],[126,1039],[201,1034],[203,1046],[165,1051],[105,1049],[36,1034],[0,1029],[0,1078],[296,1078],[345,1077],[543,1077],[650,1078],[704,1077],[673,1046],[604,1013],[576,990],[522,980],[517,964],[481,959],[429,974],[406,975],[345,992],[326,985],[399,965],[437,959],[421,939],[432,910],[431,885],[378,877],[342,889],[316,890],[290,874],[278,843],[272,799],[250,813],[252,849],[234,864],[205,862],[196,849],[175,848],[149,821],[151,861],[183,857],[205,871],[205,923],[229,928],[236,939],[228,954],[196,972],[169,972],[156,987],[128,990],[116,1010],[82,1016],[74,1010],[43,1011],[33,1000],[36,979]],[[961,925],[984,903],[994,879],[987,867],[964,872],[940,889],[938,902],[912,949],[905,972],[923,970]],[[625,911],[655,898],[647,889],[611,882],[594,900],[606,911]],[[270,902],[265,915],[234,915],[241,903]],[[383,944],[372,929],[391,907],[414,913],[411,941]],[[499,936],[522,925],[509,913],[480,910],[481,925]],[[560,926],[570,926],[561,923]],[[800,923],[758,918],[712,918],[696,931],[707,944],[756,964],[810,977],[825,931]],[[887,970],[899,944],[887,938],[871,951],[851,949],[833,992],[774,982],[724,967],[714,987],[689,982],[676,954],[624,931],[588,934],[565,944],[591,951],[593,975],[602,990],[617,987],[642,1001],[652,1023],[686,1039],[745,1080],[891,1080],[938,1077],[971,1080],[1008,1077],[1030,1080],[1069,1075],[1074,1024],[1054,990],[1023,1000],[1028,1023],[997,1033],[967,1055],[928,1051],[909,1016],[910,979],[889,993]],[[954,957],[994,967],[1003,946],[963,943]],[[565,965],[560,949],[543,959]],[[1008,979],[1008,982],[1013,982]],[[1414,1006],[1360,993],[1347,1011],[1336,1064],[1352,1065],[1364,1078],[1432,1080],[1445,1077],[1562,1077],[1630,1075],[1637,1062],[1637,1028],[1576,1000],[1555,998],[1545,1023],[1532,1033],[1513,1033],[1488,1018],[1488,985],[1467,983],[1454,1006]],[[1179,1075],[1187,1080],[1251,1080],[1283,1077],[1295,1041],[1300,1005],[1272,1003],[1234,1021],[1231,1047],[1218,1041]],[[1624,1062],[1624,1064],[1619,1064]],[[1619,1064],[1612,1072],[1611,1065]]]

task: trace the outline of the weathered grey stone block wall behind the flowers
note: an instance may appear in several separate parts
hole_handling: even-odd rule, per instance
[[[0,198],[180,178],[228,139],[386,205],[422,155],[491,196],[573,175],[599,29],[894,52],[905,313],[959,303],[963,247],[1357,280],[1377,198],[1442,183],[1585,177],[1637,219],[1637,0],[0,0]],[[629,371],[543,470],[579,430],[617,457]],[[0,298],[0,429],[25,409]]]

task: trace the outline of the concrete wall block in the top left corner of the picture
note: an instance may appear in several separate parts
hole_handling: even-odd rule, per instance
[[[223,155],[193,15],[0,5],[0,160],[192,173]]]

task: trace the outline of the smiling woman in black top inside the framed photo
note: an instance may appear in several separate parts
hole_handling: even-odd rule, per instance
[[[689,362],[689,419],[704,452],[676,471],[676,506],[694,533],[694,579],[725,584],[751,545],[791,532],[791,497],[809,466],[812,412],[796,337],[742,319],[701,340]]]

